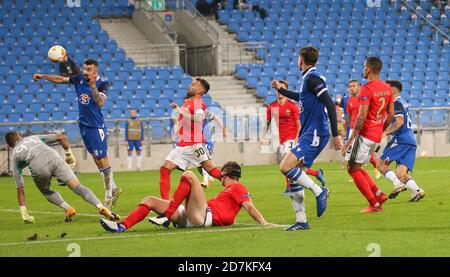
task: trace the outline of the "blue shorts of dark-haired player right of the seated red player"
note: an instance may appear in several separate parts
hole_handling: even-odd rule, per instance
[[[329,139],[330,136],[316,136],[315,139],[313,135],[301,136],[291,152],[299,161],[303,161],[306,167],[310,168],[320,152],[327,146]]]

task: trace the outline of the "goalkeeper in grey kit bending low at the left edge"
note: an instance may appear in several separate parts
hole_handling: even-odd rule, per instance
[[[51,179],[56,177],[58,182],[67,185],[75,194],[83,198],[84,201],[98,208],[101,215],[109,219],[119,219],[118,216],[110,212],[98,200],[97,196],[83,186],[75,176],[70,167],[59,156],[58,152],[47,144],[59,142],[67,151],[70,150],[67,138],[63,135],[36,135],[22,138],[17,132],[9,132],[5,135],[6,143],[12,149],[13,178],[17,187],[17,199],[22,219],[25,223],[33,223],[34,217],[27,211],[25,205],[25,190],[22,170],[28,166],[31,176],[39,191],[47,200],[65,210],[64,221],[72,221],[76,214],[75,209],[67,204],[61,195],[50,189]]]

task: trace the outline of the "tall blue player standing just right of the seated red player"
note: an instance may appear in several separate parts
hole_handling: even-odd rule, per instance
[[[337,129],[336,109],[328,94],[325,77],[316,69],[319,50],[313,46],[300,49],[298,65],[302,71],[300,92],[284,89],[280,82],[273,81],[272,86],[282,95],[299,102],[301,130],[298,144],[294,146],[281,161],[281,172],[292,181],[290,197],[296,213],[296,223],[286,231],[309,229],[306,220],[303,188],[310,189],[316,197],[317,216],[320,217],[327,208],[328,189],[322,188],[306,174],[314,160],[322,152],[333,136],[336,150],[341,148]]]

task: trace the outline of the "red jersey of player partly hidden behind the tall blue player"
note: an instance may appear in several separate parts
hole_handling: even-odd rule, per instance
[[[287,99],[284,105],[281,105],[278,100],[274,101],[267,108],[267,121],[270,121],[273,115],[275,116],[275,122],[278,127],[280,144],[283,144],[287,140],[297,139],[297,121],[300,118],[298,106]]]

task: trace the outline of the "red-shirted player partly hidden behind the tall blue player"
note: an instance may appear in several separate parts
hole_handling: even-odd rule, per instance
[[[289,88],[289,84],[284,80],[279,80],[284,89]],[[297,144],[297,139],[301,129],[300,124],[300,109],[298,105],[286,96],[277,91],[277,100],[270,103],[267,107],[267,130],[269,130],[272,118],[275,118],[275,123],[278,128],[278,136],[280,140],[280,152],[283,157]],[[325,186],[325,178],[323,170],[314,170],[309,168],[306,174],[317,178]],[[290,190],[289,179],[286,177],[286,191],[288,194]]]

